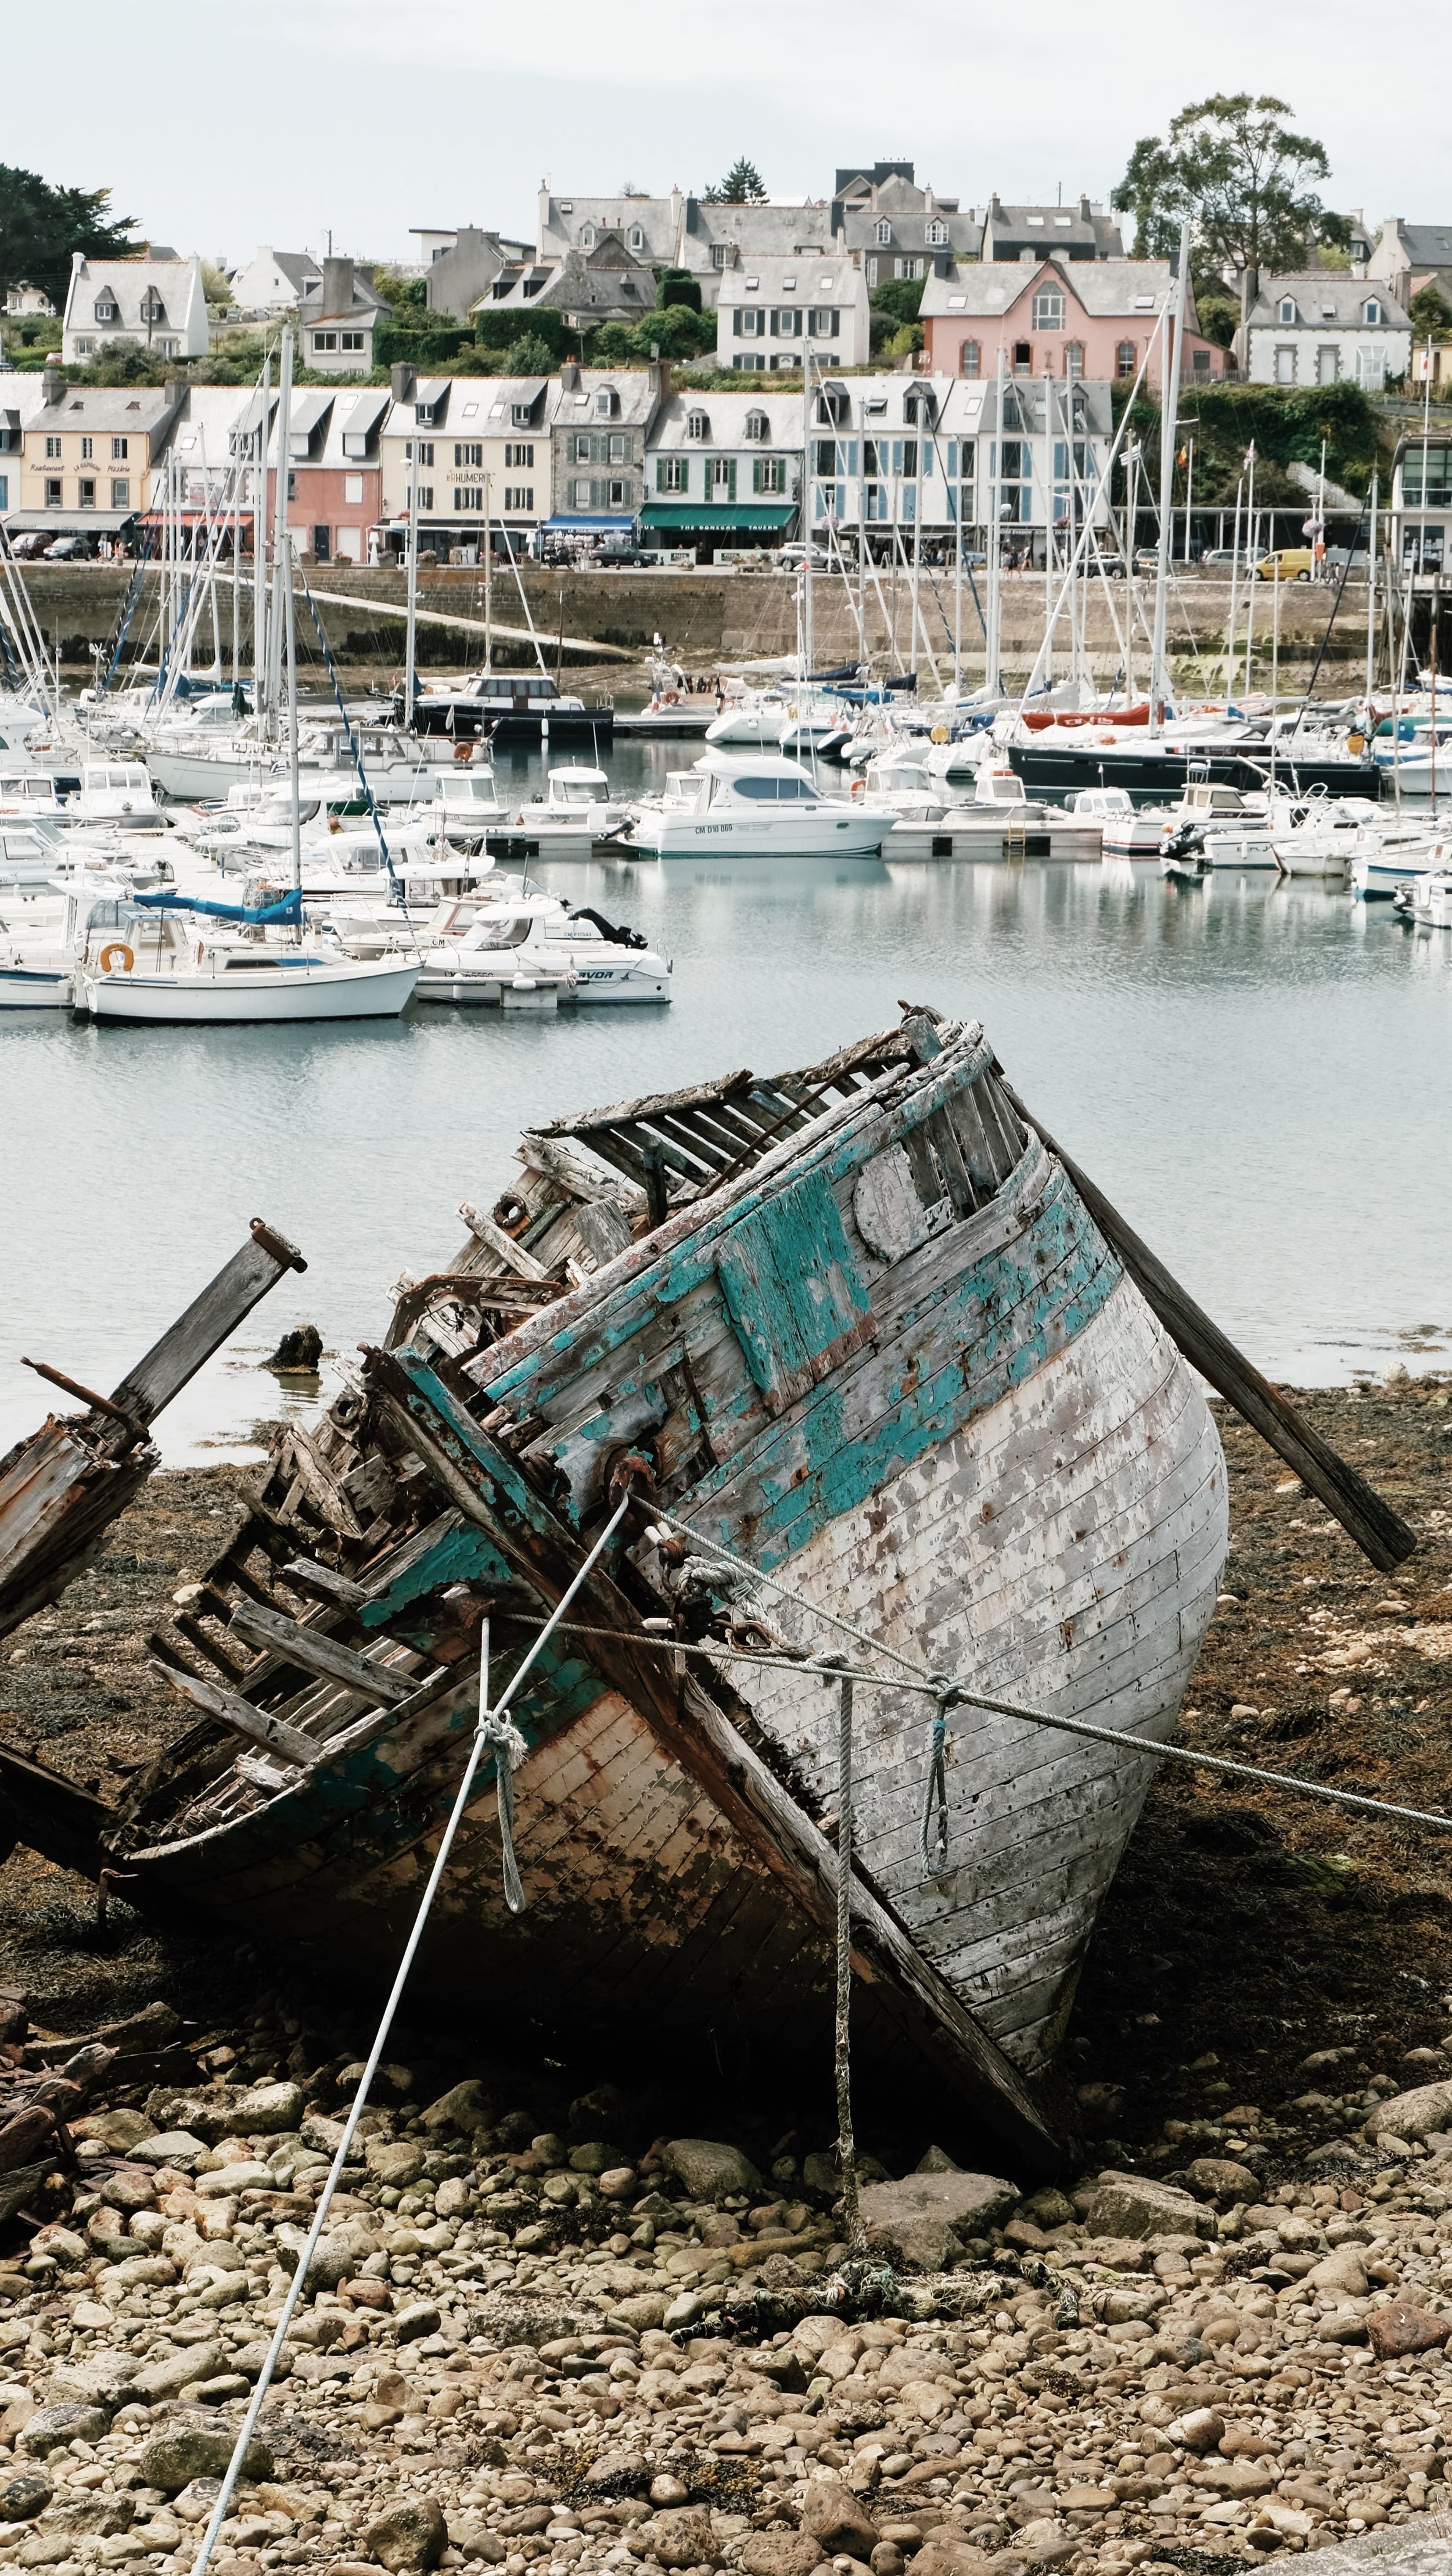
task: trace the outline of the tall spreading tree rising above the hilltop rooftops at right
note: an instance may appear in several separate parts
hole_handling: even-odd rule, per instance
[[[1135,252],[1164,260],[1189,216],[1195,273],[1305,265],[1316,242],[1344,247],[1346,216],[1331,214],[1313,180],[1331,175],[1326,147],[1287,124],[1285,98],[1215,93],[1146,134],[1110,204],[1135,219]]]

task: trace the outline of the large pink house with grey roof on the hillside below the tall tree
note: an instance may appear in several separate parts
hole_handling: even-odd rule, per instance
[[[927,278],[922,322],[924,374],[996,376],[999,350],[1009,376],[1089,376],[1130,381],[1166,296],[1169,260],[1053,260],[1025,250],[1019,260],[978,260]],[[1148,386],[1161,381],[1161,348],[1148,361]],[[1225,374],[1225,350],[1205,340],[1187,299],[1182,379]]]

